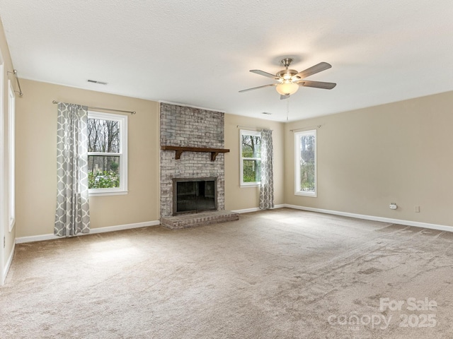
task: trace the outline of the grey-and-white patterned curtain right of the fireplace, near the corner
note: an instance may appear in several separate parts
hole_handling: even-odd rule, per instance
[[[261,186],[260,209],[269,210],[274,207],[274,170],[273,170],[272,131],[261,131]]]

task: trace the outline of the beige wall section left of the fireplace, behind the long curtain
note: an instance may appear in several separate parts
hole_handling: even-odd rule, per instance
[[[21,80],[17,100],[17,237],[52,234],[57,191],[57,105],[52,100],[137,111],[128,114],[129,194],[90,198],[91,228],[159,220],[159,105],[120,95]]]

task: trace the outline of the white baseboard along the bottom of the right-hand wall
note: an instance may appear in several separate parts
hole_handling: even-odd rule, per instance
[[[439,231],[453,232],[453,226],[430,224],[428,222],[418,222],[418,221],[411,221],[411,220],[401,220],[401,219],[376,217],[374,215],[363,215],[363,214],[347,213],[347,212],[340,212],[338,210],[323,210],[321,208],[311,208],[311,207],[296,206],[296,205],[289,205],[289,204],[285,204],[285,207],[294,208],[294,209],[297,209],[297,210],[308,210],[309,212],[318,212],[318,213],[326,213],[326,214],[333,214],[333,215],[342,215],[343,217],[350,217],[350,218],[357,218],[357,219],[364,219],[364,220],[372,220],[372,221],[381,221],[381,222],[390,222],[392,224],[415,226],[415,227],[429,228],[430,230],[439,230]]]

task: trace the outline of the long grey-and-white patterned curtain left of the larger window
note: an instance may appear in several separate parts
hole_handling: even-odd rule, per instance
[[[58,104],[54,234],[59,237],[90,232],[87,123],[88,107]]]

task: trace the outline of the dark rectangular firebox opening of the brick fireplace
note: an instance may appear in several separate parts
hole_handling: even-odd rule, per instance
[[[173,178],[173,215],[217,210],[217,178]]]

